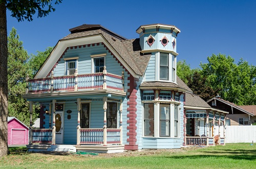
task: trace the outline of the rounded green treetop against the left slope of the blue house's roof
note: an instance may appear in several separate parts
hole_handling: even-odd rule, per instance
[[[47,47],[46,51],[40,52],[37,51],[37,55],[32,54],[31,59],[29,60],[29,67],[32,69],[32,76],[34,77],[37,71],[40,69],[42,64],[46,61],[47,57],[52,52],[53,47]]]

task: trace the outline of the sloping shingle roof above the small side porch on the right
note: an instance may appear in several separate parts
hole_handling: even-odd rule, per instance
[[[193,93],[186,93],[185,106],[211,108],[200,96]]]

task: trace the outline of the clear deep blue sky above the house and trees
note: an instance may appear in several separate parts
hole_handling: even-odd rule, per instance
[[[164,23],[181,30],[177,37],[178,60],[191,68],[207,63],[212,54],[230,55],[256,65],[256,1],[82,1],[63,0],[47,17],[18,22],[7,11],[8,35],[17,29],[28,54],[45,51],[69,29],[99,24],[128,39],[138,38],[141,25]]]

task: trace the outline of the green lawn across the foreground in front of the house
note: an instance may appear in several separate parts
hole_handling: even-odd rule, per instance
[[[0,158],[0,168],[256,168],[256,145],[250,143],[98,156],[9,150],[10,155]]]

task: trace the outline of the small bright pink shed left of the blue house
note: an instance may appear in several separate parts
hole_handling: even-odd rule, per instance
[[[8,145],[28,143],[29,128],[16,117],[8,117]]]

